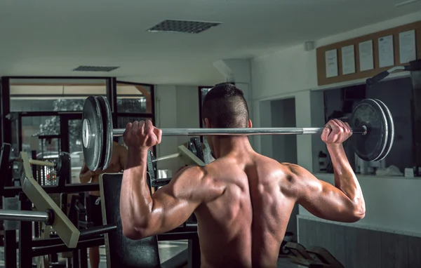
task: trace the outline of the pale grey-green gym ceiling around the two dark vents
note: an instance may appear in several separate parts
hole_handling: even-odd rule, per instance
[[[403,0],[15,0],[0,2],[0,76],[117,76],[213,85],[213,62],[321,39],[421,10]],[[222,22],[200,34],[147,32],[163,20]],[[73,72],[79,65],[119,66]]]

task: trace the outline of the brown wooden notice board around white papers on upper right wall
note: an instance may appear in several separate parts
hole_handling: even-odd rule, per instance
[[[360,36],[354,39],[349,39],[339,43],[333,43],[328,46],[321,46],[316,49],[317,57],[317,81],[319,86],[328,85],[331,83],[340,83],[345,81],[352,81],[356,79],[363,79],[366,77],[375,76],[382,71],[392,68],[389,67],[379,67],[379,51],[378,51],[378,39],[380,37],[393,35],[393,46],[394,46],[394,66],[399,66],[400,57],[399,57],[399,33],[406,32],[411,29],[415,29],[415,42],[417,46],[417,59],[421,58],[421,21],[410,23],[408,25],[402,25],[392,29],[387,29],[385,31],[376,32],[373,34],[368,34],[366,36]],[[360,72],[359,68],[359,43],[363,41],[373,40],[373,58],[374,58],[374,69]],[[355,73],[354,74],[342,74],[342,55],[341,48],[344,46],[354,45],[354,57],[355,57]],[[325,53],[336,49],[338,52],[338,76],[335,77],[326,77],[326,60]]]

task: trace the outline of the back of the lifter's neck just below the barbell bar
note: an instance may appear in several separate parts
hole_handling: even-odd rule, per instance
[[[218,158],[227,156],[227,154],[248,154],[254,152],[250,145],[250,141],[246,136],[220,136],[216,138],[215,152]]]

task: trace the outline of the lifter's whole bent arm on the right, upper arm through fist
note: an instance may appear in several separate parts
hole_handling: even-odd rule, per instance
[[[333,122],[335,123],[335,122]],[[333,124],[331,123],[331,124]],[[342,122],[339,122],[339,124]],[[335,186],[316,179],[308,170],[288,165],[293,182],[293,195],[298,203],[316,217],[337,222],[356,222],[366,214],[366,203],[354,170],[345,154],[342,140],[349,126],[333,126],[323,133],[335,171]],[[345,129],[345,130],[344,130]],[[335,142],[330,142],[330,140]],[[338,142],[336,142],[338,141]]]

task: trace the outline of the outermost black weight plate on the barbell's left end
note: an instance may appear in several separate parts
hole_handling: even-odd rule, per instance
[[[82,147],[86,166],[92,171],[100,167],[102,157],[102,131],[100,103],[94,96],[89,96],[83,103]]]

